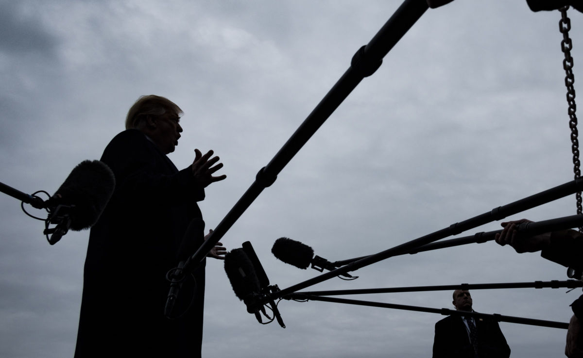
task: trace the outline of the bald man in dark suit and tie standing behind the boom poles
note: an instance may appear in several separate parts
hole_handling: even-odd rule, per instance
[[[473,311],[469,291],[455,290],[458,311]],[[448,316],[436,323],[433,358],[508,358],[510,347],[498,322],[486,318]]]

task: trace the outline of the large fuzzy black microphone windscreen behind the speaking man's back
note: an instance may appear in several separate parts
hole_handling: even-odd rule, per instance
[[[52,201],[75,205],[71,210],[71,230],[80,231],[97,222],[114,188],[115,177],[111,169],[104,162],[86,160],[73,168]]]

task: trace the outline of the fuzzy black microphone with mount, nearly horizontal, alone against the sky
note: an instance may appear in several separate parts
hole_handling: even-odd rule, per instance
[[[310,265],[312,265],[314,270],[320,272],[324,271],[324,269],[328,271],[336,270],[337,266],[341,266],[335,265],[323,257],[317,255],[314,256],[314,249],[310,246],[289,238],[279,238],[275,240],[271,252],[273,253],[273,256],[279,260],[286,264],[301,268],[302,270],[310,267]],[[355,278],[349,274],[341,275],[348,278]]]

